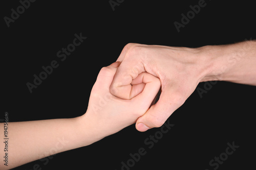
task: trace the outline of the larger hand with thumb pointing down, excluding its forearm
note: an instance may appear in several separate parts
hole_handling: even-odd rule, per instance
[[[209,63],[201,48],[170,47],[161,45],[127,44],[117,61],[122,63],[110,86],[110,92],[121,99],[132,99],[126,93],[141,72],[158,77],[161,81],[159,101],[138,118],[139,131],[160,127],[178,109],[207,75]]]

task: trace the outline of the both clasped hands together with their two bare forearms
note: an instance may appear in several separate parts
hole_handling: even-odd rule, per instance
[[[84,115],[8,123],[10,162],[0,168],[84,147],[134,123],[139,131],[160,127],[199,82],[256,85],[255,41],[199,48],[130,43],[117,61],[99,72]],[[152,105],[160,86],[159,101]]]

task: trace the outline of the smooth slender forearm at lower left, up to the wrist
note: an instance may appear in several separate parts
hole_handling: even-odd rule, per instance
[[[8,163],[0,169],[10,169],[56,153],[89,145],[102,137],[81,116],[66,119],[36,120],[8,123]],[[4,128],[4,123],[0,124]],[[4,136],[4,132],[1,132]],[[5,143],[1,142],[1,148]]]

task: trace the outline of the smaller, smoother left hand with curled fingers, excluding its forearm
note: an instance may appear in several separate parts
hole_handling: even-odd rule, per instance
[[[130,88],[118,89],[132,99],[117,98],[110,93],[110,85],[119,65],[120,62],[115,62],[100,70],[91,91],[87,113],[83,115],[90,119],[92,127],[102,137],[134,124],[150,108],[161,86],[158,78],[141,72],[131,81]]]

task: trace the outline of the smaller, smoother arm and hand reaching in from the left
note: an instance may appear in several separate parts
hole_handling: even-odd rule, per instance
[[[84,147],[134,124],[154,102],[160,80],[142,72],[132,81],[133,88],[125,92],[135,97],[132,100],[119,99],[109,91],[119,65],[120,62],[115,62],[100,70],[87,112],[82,116],[8,123],[9,162],[8,166],[2,162],[0,169]],[[4,123],[0,127],[4,128]],[[4,138],[4,132],[0,133]],[[5,148],[5,143],[1,142],[0,148]],[[5,155],[4,150],[0,154]]]

